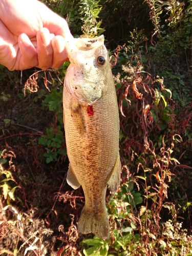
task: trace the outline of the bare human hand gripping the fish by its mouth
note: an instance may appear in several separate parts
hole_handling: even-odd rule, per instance
[[[66,20],[41,2],[0,1],[0,63],[9,70],[58,69],[70,37]]]

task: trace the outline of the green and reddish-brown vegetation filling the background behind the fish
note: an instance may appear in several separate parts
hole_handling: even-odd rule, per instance
[[[121,186],[111,236],[77,231],[66,183],[59,70],[0,66],[0,255],[192,255],[192,1],[45,0],[72,34],[101,33],[120,113]]]

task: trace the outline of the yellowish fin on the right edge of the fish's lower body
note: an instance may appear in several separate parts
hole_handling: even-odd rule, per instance
[[[115,194],[115,192],[117,191],[120,185],[120,177],[121,177],[121,162],[120,162],[120,156],[118,153],[114,168],[112,170],[112,175],[108,182],[112,194]]]

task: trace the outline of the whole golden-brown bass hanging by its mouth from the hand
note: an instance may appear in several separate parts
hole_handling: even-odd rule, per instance
[[[66,42],[70,65],[63,83],[63,122],[69,169],[67,182],[82,186],[85,204],[77,229],[110,236],[106,189],[120,184],[119,111],[104,36]]]

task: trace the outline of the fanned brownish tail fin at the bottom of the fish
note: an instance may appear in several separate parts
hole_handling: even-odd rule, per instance
[[[83,234],[94,233],[97,237],[107,240],[110,236],[110,225],[106,208],[102,212],[90,213],[86,206],[82,209],[78,231]]]

